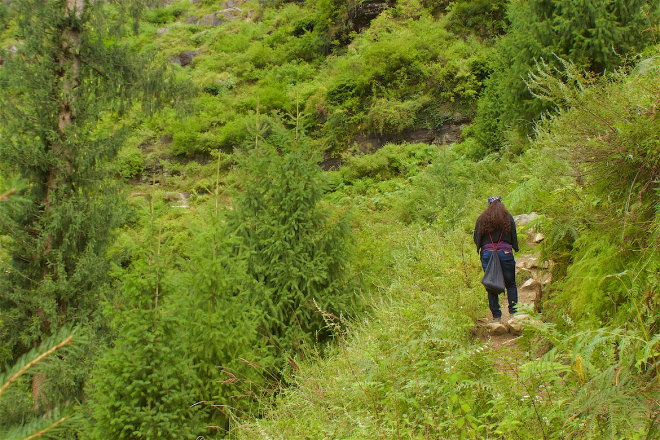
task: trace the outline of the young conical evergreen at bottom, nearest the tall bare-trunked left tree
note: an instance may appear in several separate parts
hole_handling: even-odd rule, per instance
[[[174,298],[182,284],[150,206],[149,242],[121,274],[121,296],[109,305],[119,329],[114,347],[90,379],[98,439],[173,439],[193,429],[197,377],[185,350],[185,315]]]

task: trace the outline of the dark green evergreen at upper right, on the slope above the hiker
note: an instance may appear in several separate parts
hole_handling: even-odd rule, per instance
[[[510,28],[493,57],[493,72],[479,100],[475,125],[466,132],[482,154],[502,145],[508,128],[529,133],[548,110],[525,84],[535,61],[559,66],[554,55],[594,73],[620,65],[653,42],[659,3],[648,0],[514,1]]]

